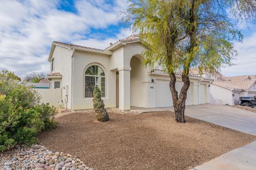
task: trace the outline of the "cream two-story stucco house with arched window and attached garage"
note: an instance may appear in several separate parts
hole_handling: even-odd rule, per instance
[[[62,106],[93,108],[93,88],[98,86],[105,106],[129,110],[131,107],[155,108],[172,106],[169,75],[150,70],[141,64],[146,50],[138,35],[97,49],[53,41],[49,55],[50,88],[61,89]],[[190,75],[187,105],[210,103],[210,80]],[[177,89],[182,87],[177,74]]]

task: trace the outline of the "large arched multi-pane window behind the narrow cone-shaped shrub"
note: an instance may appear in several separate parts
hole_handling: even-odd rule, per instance
[[[98,65],[92,65],[85,71],[85,97],[93,97],[93,89],[98,86],[101,97],[105,97],[105,73]]]

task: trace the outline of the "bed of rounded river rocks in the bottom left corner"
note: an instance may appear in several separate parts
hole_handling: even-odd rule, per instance
[[[10,160],[1,160],[4,170],[93,170],[76,156],[63,152],[52,152],[44,146],[33,145],[29,148],[18,147]]]

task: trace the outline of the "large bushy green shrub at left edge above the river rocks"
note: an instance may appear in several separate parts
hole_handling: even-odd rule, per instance
[[[37,143],[39,132],[57,126],[55,108],[39,104],[39,99],[25,84],[0,80],[0,151]]]

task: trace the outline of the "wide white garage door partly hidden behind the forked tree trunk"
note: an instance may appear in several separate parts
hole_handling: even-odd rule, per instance
[[[177,81],[176,82],[176,90],[178,93],[180,92],[181,88],[183,86],[183,82]],[[186,105],[192,104],[192,87],[189,87],[189,90],[187,92],[187,100]],[[173,106],[172,103],[172,94],[171,90],[169,88],[169,81],[166,80],[156,80],[156,107],[170,107]]]

